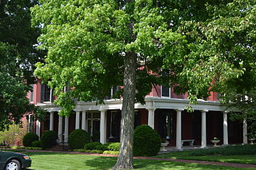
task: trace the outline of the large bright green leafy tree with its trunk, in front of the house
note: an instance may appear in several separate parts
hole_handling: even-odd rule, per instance
[[[152,85],[174,85],[191,103],[210,91],[226,92],[244,75],[246,54],[254,58],[254,47],[241,44],[254,38],[246,31],[253,31],[254,6],[242,0],[41,0],[31,11],[34,25],[42,26],[39,47],[48,54],[35,75],[54,89],[63,115],[76,101],[101,103],[122,85],[115,95],[122,94],[123,105],[114,169],[132,168],[134,102],[144,103]]]

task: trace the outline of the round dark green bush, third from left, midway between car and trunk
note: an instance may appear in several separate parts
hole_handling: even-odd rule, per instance
[[[69,135],[69,145],[71,149],[83,148],[90,142],[90,135],[82,129],[76,129]]]

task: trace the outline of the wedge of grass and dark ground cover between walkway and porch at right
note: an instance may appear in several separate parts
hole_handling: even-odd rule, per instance
[[[183,160],[230,162],[239,164],[256,164],[256,154],[252,151],[256,151],[256,145],[238,145],[182,152],[170,152],[156,157]],[[248,153],[251,155],[248,155]]]

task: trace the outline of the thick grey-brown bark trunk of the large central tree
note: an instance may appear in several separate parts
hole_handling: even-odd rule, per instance
[[[120,153],[118,161],[113,169],[133,168],[133,145],[134,145],[134,100],[135,100],[135,69],[136,54],[126,53],[124,61],[124,89],[122,101],[122,119],[120,136]]]

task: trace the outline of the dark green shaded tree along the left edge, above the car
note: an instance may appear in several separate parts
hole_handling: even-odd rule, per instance
[[[34,82],[34,63],[40,61],[34,47],[39,30],[30,21],[30,7],[36,3],[0,1],[0,129],[35,109],[26,95]]]

